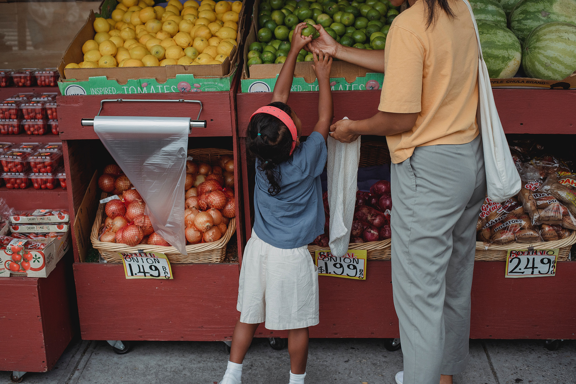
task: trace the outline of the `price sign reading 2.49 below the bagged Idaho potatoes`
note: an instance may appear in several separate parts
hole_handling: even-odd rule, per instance
[[[543,277],[556,275],[556,249],[509,249],[506,277]]]

